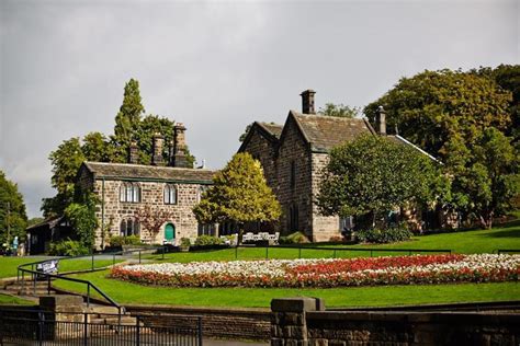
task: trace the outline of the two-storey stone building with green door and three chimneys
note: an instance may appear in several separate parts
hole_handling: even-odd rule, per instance
[[[214,234],[214,227],[197,223],[192,208],[199,203],[202,192],[211,186],[215,172],[189,166],[184,154],[184,131],[182,124],[176,125],[168,162],[162,157],[163,139],[156,134],[151,165],[138,164],[136,143],[131,145],[128,163],[82,163],[78,184],[92,191],[100,200],[97,247],[104,247],[110,235],[135,234],[146,243],[174,244],[180,238]],[[136,218],[136,212],[144,208],[152,212],[166,210],[171,217],[165,220],[158,232],[154,232]]]

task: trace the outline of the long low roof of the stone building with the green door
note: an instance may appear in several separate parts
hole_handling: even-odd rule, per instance
[[[165,181],[211,184],[216,171],[204,169],[181,169],[170,166],[156,166],[129,163],[82,163],[86,169],[94,175],[94,178],[106,180],[135,180],[135,181]],[[81,170],[80,169],[80,170]]]

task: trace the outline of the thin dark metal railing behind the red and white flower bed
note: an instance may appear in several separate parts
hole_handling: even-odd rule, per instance
[[[393,253],[407,253],[411,255],[414,253],[449,253],[451,254],[452,251],[449,249],[378,249],[378,247],[323,247],[323,246],[302,246],[302,245],[257,245],[252,246],[242,246],[238,245],[235,246],[235,260],[238,260],[238,250],[239,249],[264,249],[265,250],[265,260],[269,260],[269,250],[270,249],[294,249],[298,252],[298,258],[302,258],[302,251],[303,250],[318,250],[324,252],[331,252],[332,258],[336,258],[338,252],[370,252],[370,256],[373,257],[374,253],[382,253],[382,252],[393,252]]]

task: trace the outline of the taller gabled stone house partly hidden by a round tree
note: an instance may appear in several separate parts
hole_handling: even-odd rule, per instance
[[[282,206],[278,224],[281,233],[301,231],[312,241],[328,241],[341,235],[352,222],[351,218],[321,216],[313,203],[329,151],[362,134],[386,136],[385,113],[380,109],[376,131],[366,118],[316,114],[313,90],[301,96],[302,113],[290,111],[284,125],[255,122],[238,151],[249,152],[261,162],[265,180]],[[388,137],[423,152],[398,135]]]

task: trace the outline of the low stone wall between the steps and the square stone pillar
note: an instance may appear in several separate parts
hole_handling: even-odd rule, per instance
[[[170,305],[125,305],[146,323],[165,326],[191,326],[202,320],[204,337],[268,341],[271,312],[264,309],[180,308]]]

